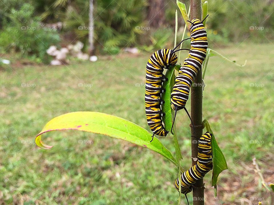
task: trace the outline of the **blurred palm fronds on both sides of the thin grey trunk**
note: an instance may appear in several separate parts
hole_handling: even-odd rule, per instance
[[[53,3],[53,7],[50,5]],[[121,47],[136,45],[140,34],[147,26],[145,22],[146,0],[104,0],[94,2],[94,38],[96,48],[106,54],[116,54]],[[42,17],[46,21],[61,21],[64,31],[74,31],[78,38],[87,45],[89,1],[58,0],[47,1]],[[65,10],[63,10],[65,8]],[[72,39],[73,40],[73,39]]]

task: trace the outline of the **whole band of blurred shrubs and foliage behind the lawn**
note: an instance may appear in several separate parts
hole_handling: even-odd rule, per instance
[[[204,2],[203,0],[202,2]],[[32,5],[26,13],[24,3]],[[64,45],[74,40],[88,43],[89,1],[84,0],[2,0],[0,2],[1,52],[9,46],[24,54],[35,54],[43,58],[45,48],[58,42],[57,32],[45,31],[45,24],[62,22]],[[187,4],[188,8],[189,5]],[[175,2],[165,0],[165,23],[161,28],[150,28],[148,0],[102,0],[94,1],[94,43],[97,53],[117,54],[123,47],[138,46],[152,51],[172,45],[175,26]],[[273,39],[274,1],[209,1],[207,31],[209,43],[227,44],[229,42],[269,42]],[[15,15],[24,15],[19,18]],[[19,12],[19,13],[13,13]],[[22,24],[22,22],[23,24]],[[179,14],[178,39],[180,40],[184,20]],[[17,30],[16,27],[28,24],[36,30]],[[38,29],[39,28],[39,29]],[[10,35],[10,34],[13,35]],[[19,38],[23,34],[22,38]],[[43,42],[41,45],[41,41]],[[17,39],[19,38],[19,39]],[[34,40],[36,39],[36,40]],[[269,40],[268,40],[269,39]],[[35,43],[33,43],[35,42]],[[39,43],[40,42],[40,43]],[[9,50],[11,49],[9,48]]]

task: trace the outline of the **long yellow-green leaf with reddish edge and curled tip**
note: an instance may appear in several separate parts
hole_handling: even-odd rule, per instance
[[[166,157],[177,166],[177,160],[171,152],[151,133],[133,122],[120,117],[101,112],[69,112],[50,120],[41,132],[36,136],[35,143],[43,149],[53,146],[46,145],[41,140],[41,135],[53,130],[80,130],[104,134],[113,138],[125,140],[133,144],[151,149]]]

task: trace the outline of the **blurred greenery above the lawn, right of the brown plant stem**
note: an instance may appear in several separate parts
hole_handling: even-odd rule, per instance
[[[269,0],[211,0],[207,29],[216,35],[209,34],[209,40],[226,43],[249,38],[253,42],[268,42],[266,38],[273,38],[273,9],[274,1]]]

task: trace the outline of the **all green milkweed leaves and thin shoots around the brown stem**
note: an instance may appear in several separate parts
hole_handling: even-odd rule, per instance
[[[187,12],[185,4],[177,1],[177,5],[182,13],[182,16],[184,18],[184,21],[186,22],[186,26],[184,28],[184,33],[182,36],[182,40],[184,39],[184,34],[186,32],[186,28],[190,28],[189,21],[189,13],[190,9]],[[204,19],[207,16],[207,1],[204,2],[202,5],[202,19]],[[177,28],[178,28],[178,14],[176,10],[176,28],[175,28],[175,42],[174,45],[176,45],[176,39],[177,39]],[[203,22],[204,25],[206,24],[206,20]],[[180,46],[180,49],[182,48],[182,44]],[[220,58],[223,58],[224,60],[230,61],[231,63],[236,64],[237,66],[244,66],[239,65],[235,63],[235,61],[231,61],[218,52],[207,48],[206,52],[206,58],[202,64],[202,69],[200,72],[202,72],[202,79],[205,79],[207,64],[209,61],[209,58],[212,56],[217,56]],[[180,53],[178,55],[178,63],[180,63]],[[144,71],[145,71],[145,65]],[[165,73],[166,78],[168,79],[163,83],[163,88],[165,89],[165,92],[162,95],[162,99],[165,102],[170,102],[170,97],[172,93],[173,86],[175,84],[175,71],[179,70],[181,65],[174,65],[170,67]],[[193,85],[192,85],[193,86]],[[165,125],[165,128],[171,132],[172,128],[172,122],[174,118],[174,111],[171,109],[170,103],[164,103],[162,105],[162,110],[165,113],[165,116],[163,117],[163,122]],[[145,117],[145,115],[144,115]],[[213,162],[213,171],[212,171],[212,179],[211,179],[211,186],[214,186],[215,188],[215,196],[217,196],[217,178],[219,174],[227,169],[227,163],[225,161],[225,157],[219,148],[217,141],[215,139],[215,136],[213,134],[213,131],[208,123],[208,121],[205,119],[202,122],[203,128],[206,129],[207,132],[212,134],[211,139],[211,147],[212,147],[212,162]],[[125,140],[130,143],[139,145],[141,147],[145,147],[147,149],[150,149],[151,151],[157,152],[158,154],[165,157],[167,160],[172,162],[174,166],[177,167],[178,173],[174,173],[174,179],[177,177],[180,177],[182,172],[185,170],[180,165],[180,160],[182,159],[182,154],[180,150],[180,145],[178,143],[178,137],[176,132],[176,124],[174,124],[173,129],[173,138],[174,138],[174,147],[176,150],[175,156],[171,151],[169,151],[164,144],[157,138],[154,137],[153,141],[151,141],[151,132],[146,130],[145,128],[142,128],[141,126],[130,122],[126,119],[113,116],[106,113],[101,112],[70,112],[66,113],[60,116],[57,116],[50,120],[44,128],[41,130],[41,132],[36,136],[35,143],[37,146],[41,147],[42,149],[50,149],[53,146],[46,145],[42,139],[42,134],[54,130],[79,130],[79,131],[85,131],[85,132],[93,132],[97,134],[104,134],[106,136],[117,138],[120,140]],[[171,135],[171,134],[170,134]],[[190,167],[190,166],[188,166]],[[179,178],[180,179],[180,178]],[[173,183],[172,183],[173,184]],[[176,191],[174,187],[174,191]],[[181,201],[181,193],[179,192],[179,198],[178,198],[178,204],[180,205]]]

